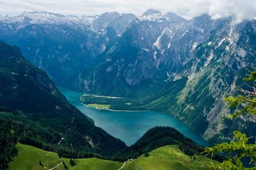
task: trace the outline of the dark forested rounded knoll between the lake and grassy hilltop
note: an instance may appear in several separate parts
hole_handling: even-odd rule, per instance
[[[149,129],[135,144],[129,146],[115,158],[118,161],[126,161],[129,158],[137,158],[147,154],[154,149],[166,145],[178,145],[179,149],[186,155],[196,155],[204,151],[203,146],[197,145],[191,139],[186,138],[174,128],[156,126]]]

